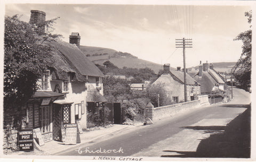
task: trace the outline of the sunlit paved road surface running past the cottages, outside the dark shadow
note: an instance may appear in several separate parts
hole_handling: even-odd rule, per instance
[[[227,123],[244,112],[243,105],[250,101],[250,93],[235,88],[234,100],[228,104],[191,110],[59,155],[161,157],[178,155],[179,151],[196,151],[202,139],[223,131]],[[97,150],[105,153],[97,153]]]

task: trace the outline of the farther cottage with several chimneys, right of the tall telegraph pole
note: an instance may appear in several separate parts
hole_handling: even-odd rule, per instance
[[[224,90],[224,79],[213,69],[213,64],[200,61],[199,70],[189,71],[188,74],[201,84],[201,93],[210,93],[213,90]]]

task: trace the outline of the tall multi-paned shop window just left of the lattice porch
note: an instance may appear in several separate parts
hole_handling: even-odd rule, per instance
[[[50,107],[44,106],[41,109],[41,133],[50,132]]]

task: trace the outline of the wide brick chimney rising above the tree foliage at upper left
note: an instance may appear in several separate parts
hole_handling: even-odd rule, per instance
[[[35,24],[39,32],[45,32],[45,12],[39,10],[30,10],[30,24]]]

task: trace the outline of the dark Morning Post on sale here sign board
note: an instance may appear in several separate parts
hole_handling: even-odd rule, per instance
[[[33,129],[21,129],[18,133],[20,151],[33,151]]]

